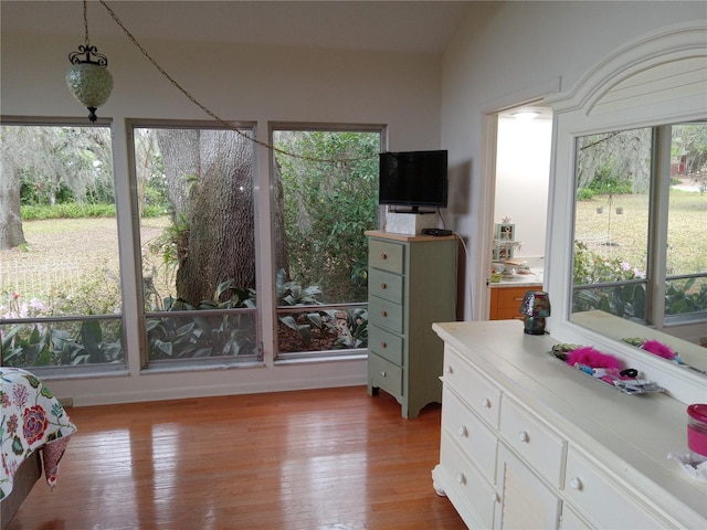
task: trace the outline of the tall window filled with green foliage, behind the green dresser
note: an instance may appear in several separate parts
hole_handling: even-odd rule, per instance
[[[273,141],[277,358],[360,351],[381,128],[282,126]]]

